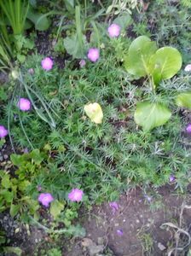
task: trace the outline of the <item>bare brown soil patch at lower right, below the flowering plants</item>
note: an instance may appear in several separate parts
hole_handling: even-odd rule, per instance
[[[103,238],[105,247],[109,247],[115,256],[167,255],[168,248],[173,247],[174,231],[161,229],[161,225],[171,222],[178,226],[182,202],[189,204],[191,201],[184,196],[172,195],[173,189],[173,185],[159,189],[158,199],[156,196],[146,198],[141,189],[132,190],[121,196],[115,214],[108,204],[94,207],[88,218],[85,216],[87,237],[96,244]],[[182,219],[182,228],[187,230],[191,224],[191,210],[185,209]],[[91,255],[84,253],[82,245],[79,241],[63,255]]]

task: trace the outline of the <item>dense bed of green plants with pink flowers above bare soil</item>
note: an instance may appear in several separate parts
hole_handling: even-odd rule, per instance
[[[62,236],[85,236],[82,207],[107,201],[118,210],[119,196],[136,186],[148,191],[170,183],[185,193],[187,9],[187,1],[162,0],[1,3],[0,64],[9,79],[0,86],[0,148],[10,144],[12,154],[0,166],[0,212],[49,234],[55,247],[48,255],[61,255]],[[35,44],[39,31],[48,40],[43,52]],[[152,255],[150,236],[139,234]],[[2,248],[11,250],[20,253]]]

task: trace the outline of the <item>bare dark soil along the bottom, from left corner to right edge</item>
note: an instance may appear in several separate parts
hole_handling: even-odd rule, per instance
[[[175,229],[167,226],[162,229],[161,225],[171,223],[179,226],[182,202],[188,205],[191,203],[190,190],[187,198],[185,195],[173,195],[173,191],[174,185],[166,185],[158,191],[155,190],[154,195],[144,195],[142,189],[137,188],[127,195],[121,195],[119,209],[115,212],[108,203],[93,207],[88,213],[82,212],[78,221],[84,226],[86,237],[61,239],[59,247],[62,248],[62,255],[167,255],[169,249],[175,245]],[[11,246],[20,247],[22,255],[49,255],[44,254],[42,247],[49,248],[51,243],[56,244],[56,241],[36,226],[27,231],[24,225],[10,220],[7,214],[1,216],[1,219],[0,226],[8,232]],[[183,211],[181,221],[182,229],[188,230],[191,209]],[[182,246],[185,242],[181,241]]]

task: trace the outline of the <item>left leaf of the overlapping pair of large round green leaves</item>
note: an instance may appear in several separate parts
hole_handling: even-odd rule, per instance
[[[149,75],[149,60],[156,50],[157,46],[150,38],[136,38],[130,44],[128,55],[124,58],[124,67],[138,78]]]

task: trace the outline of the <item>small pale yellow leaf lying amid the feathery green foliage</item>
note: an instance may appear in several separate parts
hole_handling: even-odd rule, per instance
[[[96,124],[101,124],[103,119],[103,113],[100,104],[90,103],[84,106],[84,112]]]

